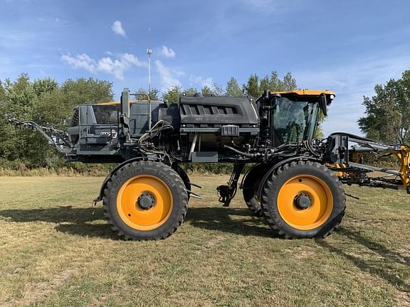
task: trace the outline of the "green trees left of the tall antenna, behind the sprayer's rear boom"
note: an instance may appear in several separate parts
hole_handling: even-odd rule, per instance
[[[63,130],[76,105],[112,99],[112,83],[103,80],[69,79],[59,85],[48,77],[31,81],[23,73],[15,81],[0,81],[0,110],[4,114],[0,119],[0,167],[25,170],[57,169],[64,165],[63,157],[46,139],[33,131],[9,125],[9,117]]]

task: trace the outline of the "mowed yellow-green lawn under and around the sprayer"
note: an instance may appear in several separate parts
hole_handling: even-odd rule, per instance
[[[103,178],[1,177],[0,306],[410,306],[410,195],[346,187],[326,239],[274,237],[238,191],[191,176],[184,224],[125,242],[92,206]]]

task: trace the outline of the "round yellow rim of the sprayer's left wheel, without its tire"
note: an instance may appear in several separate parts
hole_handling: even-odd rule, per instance
[[[149,206],[142,207],[142,198],[148,199]],[[131,178],[117,194],[117,212],[121,220],[135,230],[154,230],[161,226],[168,220],[173,206],[168,185],[151,175]]]

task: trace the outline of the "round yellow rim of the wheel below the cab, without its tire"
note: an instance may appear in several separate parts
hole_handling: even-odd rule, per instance
[[[308,202],[307,208],[300,207],[301,197]],[[302,175],[290,178],[278,193],[280,217],[298,230],[320,227],[330,217],[332,209],[333,197],[329,186],[315,176]]]

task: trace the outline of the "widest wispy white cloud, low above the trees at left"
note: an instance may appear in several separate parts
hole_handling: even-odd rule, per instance
[[[147,67],[146,62],[138,60],[135,55],[130,53],[122,53],[114,60],[110,57],[95,60],[85,53],[75,56],[65,54],[61,56],[61,60],[72,68],[83,68],[92,73],[105,72],[114,75],[119,80],[124,80],[125,70],[132,68],[132,66]]]

